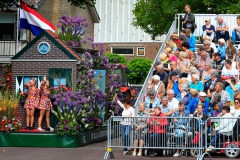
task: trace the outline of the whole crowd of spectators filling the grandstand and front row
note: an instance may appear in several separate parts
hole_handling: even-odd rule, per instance
[[[186,15],[182,17],[185,30],[181,30],[179,34],[172,33],[170,39],[166,41],[164,53],[161,53],[159,61],[153,64],[155,70],[152,79],[148,79],[143,102],[138,104],[139,113],[136,115],[150,116],[150,118],[134,123],[135,147],[138,142],[140,147],[144,146],[145,136],[142,133],[146,132],[139,131],[146,129],[147,126],[149,126],[150,146],[161,143],[161,146],[166,145],[166,142],[159,140],[164,139],[166,128],[164,129],[163,126],[169,125],[169,118],[173,119],[176,137],[181,139],[183,133],[187,131],[187,126],[179,117],[198,117],[205,121],[208,117],[231,118],[240,115],[238,84],[240,45],[234,46],[234,43],[240,40],[240,16],[237,17],[237,26],[232,31],[232,39],[229,37],[228,25],[221,16],[218,17],[216,26],[211,24],[210,18],[206,18],[205,25],[202,26],[203,45],[196,47],[196,39],[192,34],[196,28],[195,18],[189,5],[185,6],[185,10]],[[215,37],[217,45],[213,42]],[[118,103],[120,104],[119,101]],[[120,104],[120,106],[124,108],[124,105]],[[124,113],[125,109],[126,107]],[[166,119],[156,120],[157,116]],[[233,130],[234,120],[232,121],[223,119],[219,121],[218,127],[212,127],[209,150],[214,148],[216,139],[221,133],[226,134]],[[195,122],[191,123],[194,125]],[[227,128],[226,123],[229,123]],[[124,124],[123,121],[121,123],[123,129],[126,128]],[[185,126],[184,130],[179,126]],[[198,130],[195,128],[195,131]],[[126,144],[124,140],[123,143]],[[178,143],[182,144],[181,141]],[[127,148],[124,151],[126,152]],[[180,156],[179,152],[178,149],[173,156]],[[137,153],[135,148],[132,155],[142,156],[142,149],[140,148]],[[155,149],[150,150],[151,157],[156,155]]]

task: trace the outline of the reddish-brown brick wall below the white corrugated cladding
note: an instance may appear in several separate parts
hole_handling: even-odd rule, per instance
[[[154,60],[161,45],[161,42],[105,43],[104,48],[105,52],[111,52],[112,47],[133,47],[134,55],[124,55],[127,61],[130,61],[135,57]],[[145,56],[137,55],[137,47],[145,47]]]

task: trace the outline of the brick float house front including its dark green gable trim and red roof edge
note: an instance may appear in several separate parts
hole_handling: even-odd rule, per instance
[[[47,54],[40,54],[38,45],[40,42],[47,42],[51,49]],[[12,60],[12,90],[23,91],[24,77],[37,77],[40,84],[40,77],[46,75],[48,78],[50,69],[70,69],[72,84],[75,84],[76,65],[81,58],[75,51],[69,48],[61,39],[51,31],[43,31],[35,37],[25,48],[16,54]],[[51,82],[50,82],[51,83]],[[72,86],[73,88],[75,86]],[[23,127],[25,127],[25,109],[24,104],[19,103],[19,113],[22,117]],[[37,127],[39,110],[35,111],[34,127]],[[43,119],[42,126],[46,125]]]

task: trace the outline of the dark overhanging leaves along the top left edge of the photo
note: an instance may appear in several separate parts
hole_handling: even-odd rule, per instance
[[[0,10],[9,10],[9,8],[12,6],[20,7],[18,4],[20,1],[21,0],[1,0]],[[26,0],[23,0],[23,1],[26,1]],[[32,0],[32,1],[26,1],[26,2],[30,7],[33,7],[34,3],[36,3],[37,1]],[[74,5],[76,7],[84,8],[85,4],[88,6],[94,6],[96,3],[96,0],[68,0],[68,2],[70,2],[71,5]]]

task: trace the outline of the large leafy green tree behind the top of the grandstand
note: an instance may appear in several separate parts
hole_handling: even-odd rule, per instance
[[[137,0],[132,10],[135,16],[132,24],[154,40],[168,32],[176,13],[185,13],[186,4],[191,6],[193,13],[238,13],[240,9],[239,0],[222,0],[221,3],[217,0]]]

